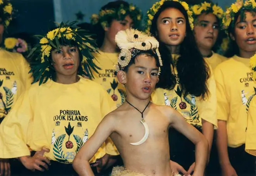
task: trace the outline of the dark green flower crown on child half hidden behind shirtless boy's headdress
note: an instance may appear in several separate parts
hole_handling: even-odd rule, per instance
[[[129,7],[124,7],[123,4],[120,5],[118,9],[104,9],[100,10],[99,15],[92,14],[91,16],[91,23],[97,24],[100,23],[101,26],[108,27],[109,19],[116,19],[116,20],[124,20],[125,17],[129,15],[133,20],[133,24],[137,27],[140,25],[140,21],[142,19],[141,10],[133,4],[130,4]]]

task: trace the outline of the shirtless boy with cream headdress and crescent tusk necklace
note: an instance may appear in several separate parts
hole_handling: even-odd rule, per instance
[[[116,43],[121,49],[117,76],[126,87],[126,101],[107,114],[80,149],[73,161],[75,171],[80,176],[93,176],[88,161],[110,136],[125,168],[114,168],[112,176],[121,176],[120,171],[126,175],[171,176],[168,128],[172,127],[195,144],[193,176],[203,176],[208,142],[202,133],[175,109],[150,102],[162,65],[159,43],[133,29],[118,32]]]

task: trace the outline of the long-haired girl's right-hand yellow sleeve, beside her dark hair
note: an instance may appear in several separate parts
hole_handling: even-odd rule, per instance
[[[209,79],[207,80],[209,97],[206,100],[203,100],[201,98],[197,103],[197,107],[199,110],[200,117],[203,120],[206,120],[209,123],[213,124],[214,128],[217,128],[218,121],[216,116],[216,110],[217,110],[216,83],[214,80],[214,75],[211,67],[210,67],[210,71],[211,71],[211,74]]]

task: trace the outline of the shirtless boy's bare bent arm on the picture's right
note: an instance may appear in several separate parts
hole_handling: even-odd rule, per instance
[[[208,142],[204,135],[187,123],[183,116],[169,108],[170,125],[195,144],[195,176],[203,176],[208,156]]]

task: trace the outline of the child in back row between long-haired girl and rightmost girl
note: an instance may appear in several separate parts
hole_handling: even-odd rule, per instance
[[[226,57],[213,52],[221,41],[219,34],[223,10],[216,4],[206,1],[193,5],[191,9],[194,17],[194,36],[197,47],[214,70],[219,63],[227,60]]]

